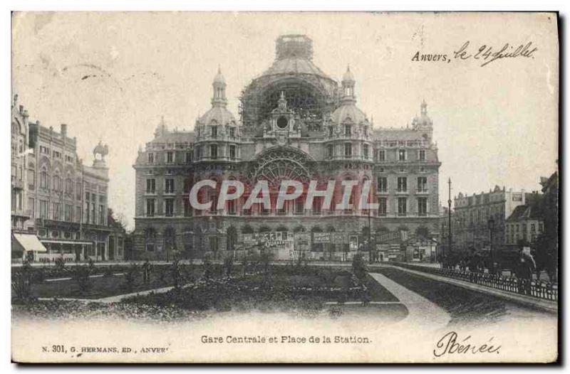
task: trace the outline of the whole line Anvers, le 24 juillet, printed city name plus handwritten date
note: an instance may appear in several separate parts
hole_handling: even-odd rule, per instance
[[[451,63],[452,60],[477,60],[481,62],[481,67],[489,65],[497,60],[504,60],[509,58],[534,58],[534,53],[538,48],[533,46],[532,41],[526,44],[519,44],[512,46],[505,43],[502,48],[495,48],[483,44],[478,48],[473,48],[470,41],[466,41],[453,53],[420,53],[418,50],[413,56],[413,62],[441,62]]]

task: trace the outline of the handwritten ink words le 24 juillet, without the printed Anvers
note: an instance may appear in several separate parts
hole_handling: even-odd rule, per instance
[[[502,58],[534,58],[533,53],[538,50],[537,47],[532,45],[532,41],[529,41],[524,46],[520,44],[517,48],[509,45],[509,43],[505,43],[499,50],[495,50],[492,46],[487,46],[486,44],[480,46],[476,53],[470,52],[470,49],[470,42],[466,41],[459,50],[453,51],[454,58],[460,60],[468,60],[470,58],[481,60],[483,61],[481,64],[483,67]]]

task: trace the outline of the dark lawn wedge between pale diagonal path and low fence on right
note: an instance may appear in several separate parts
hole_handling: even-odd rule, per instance
[[[507,315],[505,302],[494,296],[453,284],[437,282],[434,279],[392,267],[375,269],[374,272],[384,274],[410,291],[441,306],[450,314],[451,326],[496,322]]]

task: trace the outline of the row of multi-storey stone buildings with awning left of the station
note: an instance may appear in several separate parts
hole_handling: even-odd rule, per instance
[[[29,122],[28,112],[16,104],[17,95],[11,123],[12,232],[36,235],[43,248],[26,254],[13,237],[14,260],[24,255],[37,261],[122,259],[115,238],[124,237],[124,230],[110,227],[108,220],[106,146],[95,146],[93,166],[87,166],[78,158],[77,139],[68,136],[66,124],[56,132]]]

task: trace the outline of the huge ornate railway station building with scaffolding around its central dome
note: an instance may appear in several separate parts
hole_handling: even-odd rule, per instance
[[[211,107],[193,127],[162,119],[134,164],[136,257],[240,258],[259,247],[264,233],[282,233],[291,240],[291,256],[350,260],[358,250],[372,248],[376,260],[387,261],[393,259],[393,238],[400,247],[419,248],[437,237],[440,161],[425,101],[411,127],[373,124],[358,107],[351,68],[337,82],[312,56],[309,37],[280,36],[274,62],[242,90],[237,116],[227,108],[227,83],[218,69]],[[184,127],[189,129],[178,130]],[[213,201],[212,208],[194,210],[189,192],[204,179],[218,182],[217,189],[199,195],[200,201]],[[300,196],[283,208],[245,209],[246,188],[242,198],[217,210],[219,186],[228,179],[246,186],[260,180],[269,186],[286,179],[318,181],[318,186],[371,181],[378,208],[354,203],[326,210],[323,198],[308,208]],[[351,202],[358,201],[358,193]],[[333,204],[341,198],[335,191]]]

